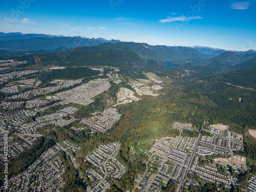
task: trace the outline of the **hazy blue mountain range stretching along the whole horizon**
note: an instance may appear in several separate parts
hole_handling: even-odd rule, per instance
[[[30,54],[37,54],[42,62],[58,66],[154,68],[164,66],[165,61],[169,61],[177,64],[177,69],[193,70],[202,75],[256,66],[254,50],[237,52],[202,46],[152,46],[80,36],[0,33],[1,58]]]

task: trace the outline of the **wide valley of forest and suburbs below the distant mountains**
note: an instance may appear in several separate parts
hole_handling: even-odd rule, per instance
[[[108,42],[0,55],[0,191],[253,191],[254,52],[202,50]]]

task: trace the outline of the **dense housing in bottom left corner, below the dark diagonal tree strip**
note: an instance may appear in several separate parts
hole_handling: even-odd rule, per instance
[[[10,178],[9,189],[2,187],[0,191],[27,191],[30,186],[34,191],[59,191],[65,184],[62,177],[65,167],[58,155],[59,151],[60,148],[57,146],[50,148],[40,156],[40,160],[36,160],[23,173]],[[36,178],[33,183],[30,182],[31,176]]]

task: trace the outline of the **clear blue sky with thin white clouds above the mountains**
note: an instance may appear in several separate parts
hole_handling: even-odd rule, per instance
[[[256,1],[2,1],[0,31],[256,50]]]

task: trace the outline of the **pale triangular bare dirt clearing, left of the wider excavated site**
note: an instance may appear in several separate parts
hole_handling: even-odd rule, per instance
[[[138,101],[139,98],[134,96],[134,92],[127,88],[120,88],[117,93],[117,104],[130,103],[133,101]],[[115,106],[116,106],[115,105]]]

